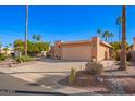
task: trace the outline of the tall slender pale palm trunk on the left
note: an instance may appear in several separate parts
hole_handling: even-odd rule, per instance
[[[28,36],[28,5],[26,5],[25,55],[27,55],[27,36]]]

